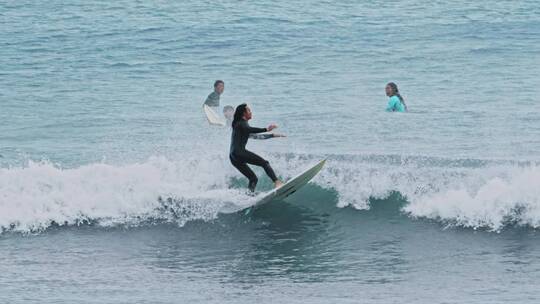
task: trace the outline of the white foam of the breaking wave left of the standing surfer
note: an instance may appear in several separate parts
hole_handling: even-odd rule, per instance
[[[0,169],[0,227],[36,231],[55,222],[84,220],[100,225],[136,224],[147,219],[210,220],[220,209],[242,208],[251,198],[228,189],[232,170],[220,158],[173,162],[154,157],[124,166],[91,164],[62,169],[48,162]],[[162,212],[158,197],[174,198],[175,218]],[[227,199],[224,199],[227,198]],[[178,214],[180,216],[178,217]]]

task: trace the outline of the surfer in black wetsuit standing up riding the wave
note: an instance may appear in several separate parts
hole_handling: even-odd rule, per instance
[[[283,183],[276,177],[270,163],[259,155],[246,150],[246,144],[251,134],[269,132],[277,128],[277,126],[271,124],[267,128],[251,127],[248,124],[248,120],[251,117],[251,109],[245,103],[236,107],[232,122],[231,149],[229,152],[231,164],[248,178],[248,188],[251,192],[255,191],[259,180],[248,164],[262,167],[268,177],[274,182],[274,187],[280,187]],[[268,138],[283,137],[281,134],[267,134],[267,136],[269,136]]]

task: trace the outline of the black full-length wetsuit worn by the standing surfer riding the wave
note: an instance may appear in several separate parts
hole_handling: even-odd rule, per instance
[[[272,181],[277,181],[276,174],[274,173],[272,167],[270,167],[268,161],[259,155],[246,150],[246,144],[250,134],[263,133],[267,131],[268,130],[266,128],[250,127],[248,122],[245,120],[237,122],[233,127],[229,158],[233,166],[249,179],[249,190],[251,191],[255,191],[255,186],[257,186],[258,179],[247,164],[263,167],[264,171],[272,179]]]

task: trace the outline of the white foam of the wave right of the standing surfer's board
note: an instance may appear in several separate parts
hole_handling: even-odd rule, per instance
[[[339,193],[338,207],[369,209],[370,198],[398,191],[403,211],[472,228],[502,229],[512,222],[540,227],[540,168],[536,165],[425,166],[341,160],[328,162],[319,182]]]

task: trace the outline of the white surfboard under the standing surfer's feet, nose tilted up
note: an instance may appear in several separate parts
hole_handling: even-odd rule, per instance
[[[321,171],[325,162],[326,162],[326,159],[320,161],[315,166],[307,169],[306,171],[288,180],[283,186],[267,192],[253,206],[249,208],[250,209],[257,208],[271,201],[283,200],[287,198],[289,195],[295,193],[298,189],[302,188],[313,177],[315,177],[315,175],[317,175],[317,173]]]

